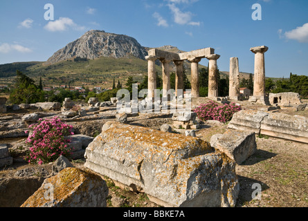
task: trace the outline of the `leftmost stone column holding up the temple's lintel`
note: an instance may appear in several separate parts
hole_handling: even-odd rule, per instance
[[[147,97],[154,98],[154,90],[156,89],[156,70],[155,70],[155,61],[157,59],[156,56],[146,56],[147,59]]]

